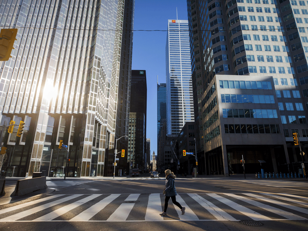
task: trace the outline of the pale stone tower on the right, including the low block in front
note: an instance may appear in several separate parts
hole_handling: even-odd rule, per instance
[[[298,172],[307,141],[305,1],[187,1],[208,174]],[[306,157],[304,157],[305,159]],[[293,163],[294,164],[290,164]]]

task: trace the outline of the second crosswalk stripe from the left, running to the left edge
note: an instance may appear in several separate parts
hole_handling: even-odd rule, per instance
[[[20,212],[20,213],[16,213],[16,214],[11,215],[9,217],[2,218],[2,219],[0,219],[0,221],[17,221],[18,219],[29,216],[33,213],[36,213],[37,211],[50,208],[52,206],[58,205],[58,204],[65,202],[65,201],[69,201],[69,200],[74,199],[76,197],[80,197],[82,195],[83,194],[75,194],[75,195],[72,195],[72,196],[69,196],[69,197],[62,198],[62,199],[57,200],[57,201],[52,201],[52,202],[49,202],[47,204],[40,205],[38,207],[28,209],[28,210],[25,210],[25,211]]]

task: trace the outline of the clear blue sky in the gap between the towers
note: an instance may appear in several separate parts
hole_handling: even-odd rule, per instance
[[[134,30],[167,30],[168,19],[187,20],[186,0],[135,0]],[[134,31],[132,70],[146,70],[147,137],[157,155],[157,75],[166,83],[166,31]]]

